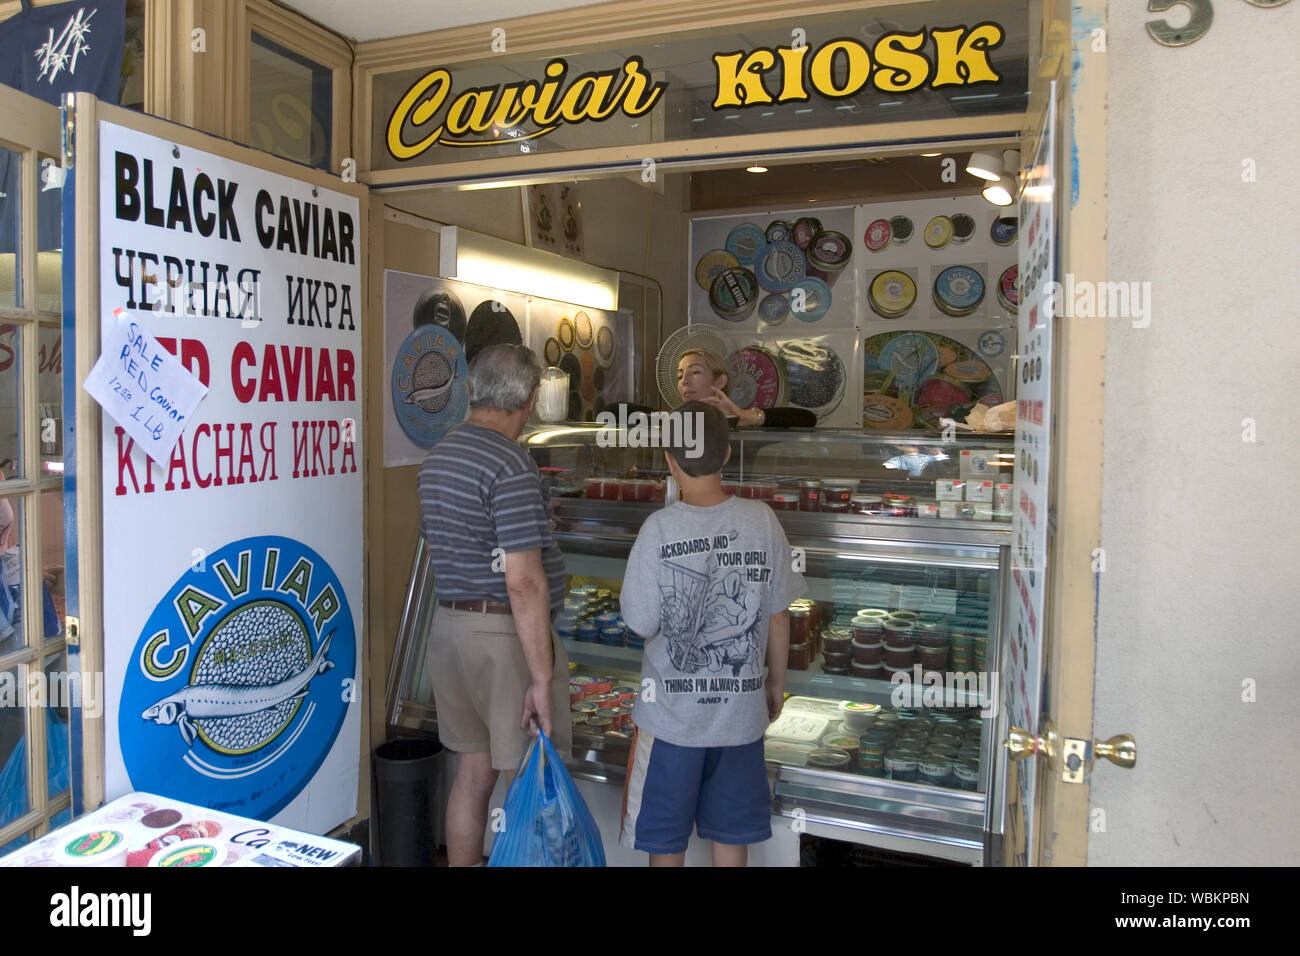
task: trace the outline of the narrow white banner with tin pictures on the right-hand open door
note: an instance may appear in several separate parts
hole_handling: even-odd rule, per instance
[[[1020,194],[1020,360],[1015,395],[1015,492],[1011,505],[1011,587],[1006,604],[1006,657],[1002,661],[1008,721],[1041,732],[1043,628],[1046,604],[1048,467],[1052,429],[1050,285],[1056,281],[1056,90]],[[1034,845],[1037,774],[1026,762],[1018,774],[1020,832]],[[1027,861],[1023,861],[1027,862]]]

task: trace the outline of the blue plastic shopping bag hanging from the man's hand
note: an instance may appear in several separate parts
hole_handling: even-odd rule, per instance
[[[489,866],[604,866],[595,819],[545,734],[524,753],[503,809]]]

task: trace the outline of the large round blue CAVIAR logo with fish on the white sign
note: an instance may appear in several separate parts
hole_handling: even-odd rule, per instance
[[[159,596],[126,661],[130,784],[270,818],[359,719],[356,635],[343,581],[306,544],[265,535],[209,551]]]

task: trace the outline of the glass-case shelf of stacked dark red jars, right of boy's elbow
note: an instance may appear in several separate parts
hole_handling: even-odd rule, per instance
[[[829,609],[829,614],[828,614]],[[859,607],[801,598],[789,606],[789,670],[893,680],[896,674],[984,671],[987,602],[959,614]],[[961,609],[959,609],[961,610]]]

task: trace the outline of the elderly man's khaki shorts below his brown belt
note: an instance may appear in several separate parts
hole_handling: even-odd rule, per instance
[[[568,756],[568,654],[551,628],[551,743]],[[490,753],[497,770],[514,770],[532,735],[520,727],[524,692],[532,683],[524,648],[508,614],[459,611],[438,605],[425,669],[438,711],[438,739],[458,753]]]

